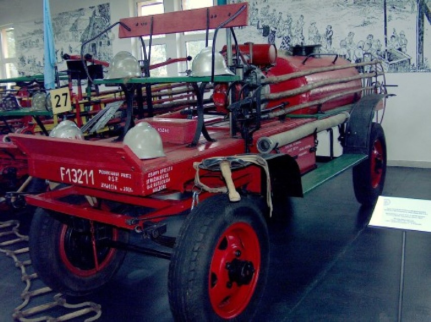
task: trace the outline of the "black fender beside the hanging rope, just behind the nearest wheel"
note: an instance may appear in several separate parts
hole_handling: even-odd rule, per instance
[[[274,199],[304,197],[301,173],[295,159],[288,154],[261,154],[267,161]],[[266,173],[262,170],[262,191],[267,191]]]

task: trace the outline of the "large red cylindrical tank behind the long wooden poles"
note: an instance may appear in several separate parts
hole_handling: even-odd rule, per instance
[[[281,76],[281,75],[291,74],[294,72],[311,70],[319,67],[340,66],[340,65],[350,64],[349,61],[342,59],[340,57],[338,57],[338,59],[333,64],[334,58],[335,56],[309,57],[305,62],[305,64],[303,64],[303,61],[306,59],[305,56],[279,55],[277,57],[275,66],[268,70],[268,72],[266,73],[266,76],[267,77]],[[313,84],[315,82],[319,82],[327,79],[346,78],[346,77],[355,76],[355,75],[358,75],[358,71],[355,67],[339,69],[335,71],[315,73],[308,76],[293,78],[276,84],[270,84],[269,91],[271,94],[279,93],[281,91],[298,88],[304,85]],[[318,87],[310,91],[307,91],[304,94],[299,94],[293,97],[288,97],[283,99],[272,100],[268,103],[266,108],[271,108],[271,107],[280,105],[282,103],[287,103],[286,107],[291,107],[298,104],[320,100],[330,95],[340,93],[341,91],[360,89],[361,87],[362,87],[361,79],[344,82],[344,83],[340,82],[333,85],[326,85],[323,87]],[[327,111],[339,106],[352,104],[361,97],[361,94],[362,93],[359,90],[357,93],[344,95],[339,98],[328,101],[326,103],[323,103],[321,106],[321,111]],[[315,106],[299,109],[295,112],[292,112],[292,114],[315,114],[317,113],[317,111],[318,111],[318,106],[315,105]]]

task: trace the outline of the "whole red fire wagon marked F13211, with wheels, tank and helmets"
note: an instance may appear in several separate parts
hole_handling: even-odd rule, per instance
[[[379,63],[350,64],[313,46],[287,55],[268,44],[239,45],[233,27],[246,21],[244,4],[122,19],[120,37],[150,35],[151,42],[156,34],[215,28],[215,38],[230,28],[231,38],[222,52],[213,40],[195,57],[191,75],[139,77],[128,70],[94,80],[119,84],[126,94],[119,137],[9,135],[29,173],[50,181],[50,191],[26,200],[38,207],[32,263],[51,288],[88,294],[110,280],[127,250],[138,251],[170,260],[176,320],[249,320],[268,273],[266,219],[283,215],[277,203],[303,197],[352,166],[358,201],[376,200],[386,168],[383,130],[373,121],[386,97]],[[119,66],[133,65],[133,57],[121,55],[127,63]],[[134,117],[138,86],[173,82],[193,87],[195,107]],[[332,128],[339,135],[331,146],[340,144],[342,154],[317,162],[317,134]],[[179,213],[187,214],[179,235],[166,236],[166,219]],[[130,234],[172,250],[132,245]]]

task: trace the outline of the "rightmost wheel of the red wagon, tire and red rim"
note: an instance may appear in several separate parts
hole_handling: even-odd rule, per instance
[[[383,128],[372,123],[368,158],[353,168],[353,188],[356,199],[372,206],[381,195],[386,176],[386,141]]]

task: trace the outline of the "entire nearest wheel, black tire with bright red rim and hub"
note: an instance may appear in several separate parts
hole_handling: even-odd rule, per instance
[[[248,321],[266,284],[268,229],[251,197],[210,197],[187,217],[169,265],[177,321]]]

